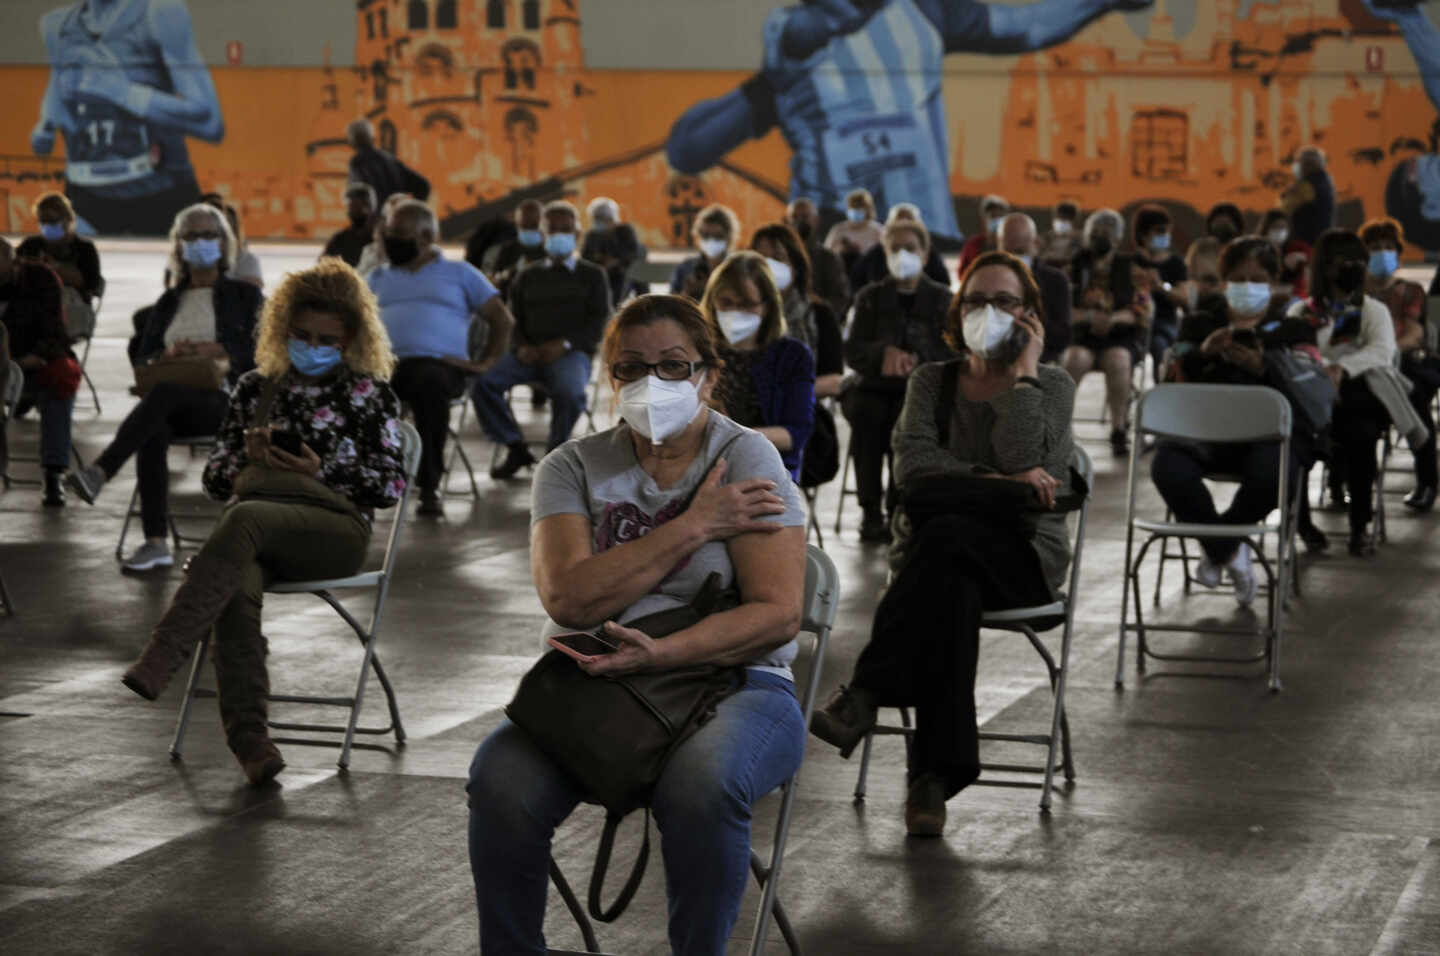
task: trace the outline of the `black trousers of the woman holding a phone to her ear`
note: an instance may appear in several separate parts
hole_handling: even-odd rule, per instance
[[[880,705],[914,707],[910,779],[937,775],[950,798],[981,773],[981,613],[1054,598],[1018,515],[930,518],[912,547],[876,609],[851,684],[873,693]]]

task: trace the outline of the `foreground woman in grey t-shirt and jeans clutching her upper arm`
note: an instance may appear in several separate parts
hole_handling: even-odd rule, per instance
[[[677,953],[723,953],[749,875],[750,809],[799,766],[789,665],[805,511],[775,446],[707,406],[714,331],[694,302],[642,295],[602,347],[622,422],[536,469],[530,566],[549,633],[602,628],[592,675],[743,664],[744,687],[670,757],[652,798]],[[690,603],[711,573],[739,606],[654,641],[625,623]],[[586,796],[503,721],[469,772],[481,952],[544,952],[550,836]]]

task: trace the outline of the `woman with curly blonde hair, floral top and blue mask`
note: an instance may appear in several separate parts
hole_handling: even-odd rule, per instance
[[[405,491],[405,462],[384,382],[395,356],[348,265],[321,259],[288,275],[261,317],[255,357],[204,466],[204,490],[229,504],[122,680],[156,700],[215,628],[220,721],[261,785],[285,766],[266,730],[265,585],[354,574],[373,510]]]

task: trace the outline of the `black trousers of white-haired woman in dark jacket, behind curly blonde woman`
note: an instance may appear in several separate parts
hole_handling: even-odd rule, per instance
[[[107,478],[114,478],[131,455],[140,484],[140,526],[145,537],[163,538],[170,533],[170,439],[215,435],[225,420],[229,396],[213,389],[184,384],[157,384],[120,423],[115,438],[95,464]]]

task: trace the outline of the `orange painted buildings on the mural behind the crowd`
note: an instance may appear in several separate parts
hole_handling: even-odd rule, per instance
[[[203,9],[190,6],[200,32]],[[775,128],[703,171],[677,171],[677,120],[752,73],[588,69],[582,16],[598,16],[598,0],[336,9],[356,19],[353,66],[209,65],[225,131],[189,138],[190,161],[202,189],[240,206],[252,236],[315,239],[346,225],[344,127],[361,115],[429,177],[451,238],[524,197],[605,194],[648,245],[687,245],[707,202],[729,203],[749,229],[779,217],[791,194],[792,147]],[[1215,202],[1274,206],[1308,143],[1331,157],[1344,222],[1381,213],[1387,189],[1417,202],[1401,189],[1405,164],[1436,153],[1436,107],[1407,35],[1374,13],[1365,0],[1158,0],[1047,49],[945,53],[942,141],[960,229],[975,227],[978,196],[1001,193],[1028,209],[1166,200],[1194,232]],[[740,59],[759,60],[763,27]],[[65,183],[65,144],[48,157],[32,148],[50,72],[0,66],[9,232],[29,230],[33,197]]]

